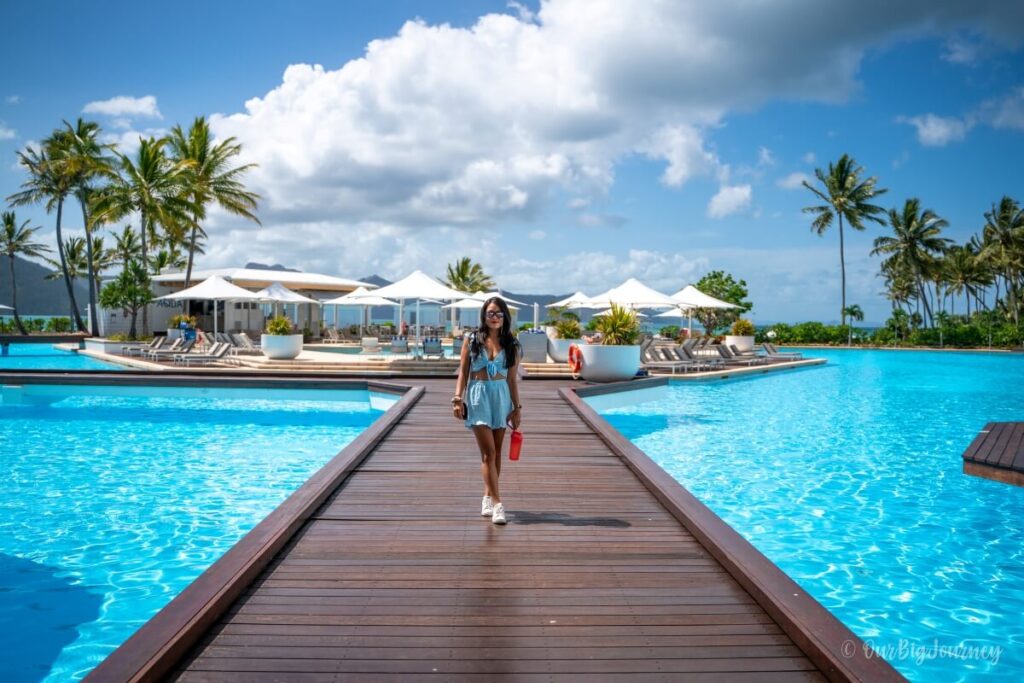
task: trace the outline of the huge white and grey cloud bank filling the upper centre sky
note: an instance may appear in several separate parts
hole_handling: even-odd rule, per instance
[[[867,50],[968,25],[1019,35],[1024,22],[996,0],[873,1],[807,12],[744,0],[550,0],[467,27],[409,22],[337,69],[289,66],[211,127],[259,165],[246,183],[263,196],[264,223],[315,225],[324,244],[384,226],[520,228],[566,196],[606,197],[616,167],[636,158],[660,165],[670,187],[716,178],[709,211],[736,210],[744,185],[728,182],[714,145],[730,113],[842,102],[858,91]]]

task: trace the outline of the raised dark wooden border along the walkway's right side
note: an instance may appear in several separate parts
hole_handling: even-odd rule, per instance
[[[669,378],[650,380],[646,385],[666,383]],[[584,401],[588,395],[631,391],[637,385],[634,381],[594,389],[564,387],[558,393],[829,680],[906,680],[881,655],[871,652],[824,605]]]

